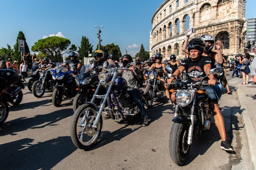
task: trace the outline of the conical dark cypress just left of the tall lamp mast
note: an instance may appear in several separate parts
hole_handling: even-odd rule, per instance
[[[89,43],[89,39],[82,35],[81,44],[78,46],[78,53],[83,63],[84,57],[88,57],[88,54],[92,53],[92,47],[92,44]]]

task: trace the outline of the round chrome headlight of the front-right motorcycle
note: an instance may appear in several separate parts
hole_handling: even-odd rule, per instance
[[[191,103],[193,98],[193,93],[188,90],[180,90],[176,94],[176,100],[178,104],[182,107],[187,106],[189,103]]]

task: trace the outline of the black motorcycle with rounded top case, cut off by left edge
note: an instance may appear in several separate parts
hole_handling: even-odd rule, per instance
[[[22,76],[15,71],[10,69],[0,70],[0,125],[8,117],[8,103],[9,105],[16,106],[22,100],[21,88],[23,87],[24,89],[25,87],[20,80],[22,80]]]

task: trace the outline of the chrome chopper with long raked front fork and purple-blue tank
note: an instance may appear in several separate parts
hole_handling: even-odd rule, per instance
[[[135,62],[129,65],[135,65]],[[96,144],[102,128],[101,113],[105,114],[109,111],[112,119],[126,120],[140,112],[129,97],[127,81],[123,77],[117,76],[118,70],[129,70],[129,65],[125,68],[110,68],[108,73],[101,72],[98,76],[100,82],[91,102],[86,102],[75,111],[71,120],[70,133],[77,148],[87,150]],[[103,67],[99,66],[99,68]],[[100,87],[107,91],[105,95],[98,95]],[[100,108],[94,103],[95,98],[103,100]],[[104,109],[106,102],[108,109]]]

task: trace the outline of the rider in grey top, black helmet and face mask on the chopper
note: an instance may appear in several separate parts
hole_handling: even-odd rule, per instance
[[[129,63],[132,62],[132,56],[129,54],[125,54],[122,57],[123,61],[123,67],[126,67]],[[134,70],[135,69],[135,70]],[[129,70],[120,70],[120,74],[122,77],[127,81],[128,85],[128,93],[131,97],[131,99],[137,104],[137,106],[140,108],[140,112],[143,116],[143,123],[142,126],[148,125],[148,114],[146,112],[146,109],[144,107],[144,104],[142,103],[140,99],[140,93],[139,93],[139,76],[140,76],[140,68],[137,66],[130,66]]]

